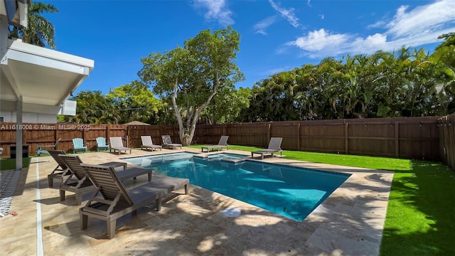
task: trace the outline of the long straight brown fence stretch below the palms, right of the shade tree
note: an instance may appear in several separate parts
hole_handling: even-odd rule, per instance
[[[269,137],[283,137],[282,149],[335,154],[440,160],[438,117],[337,119],[198,125],[198,144],[218,142],[267,147]]]

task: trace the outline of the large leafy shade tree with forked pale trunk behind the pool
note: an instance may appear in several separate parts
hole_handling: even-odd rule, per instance
[[[232,27],[200,31],[164,53],[142,58],[141,82],[153,87],[161,98],[171,102],[183,145],[191,144],[200,113],[220,88],[235,88],[244,75],[235,64],[240,34]]]

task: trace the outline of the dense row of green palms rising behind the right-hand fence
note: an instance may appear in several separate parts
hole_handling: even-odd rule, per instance
[[[434,50],[325,58],[256,82],[241,122],[439,116],[455,112],[454,35]]]

